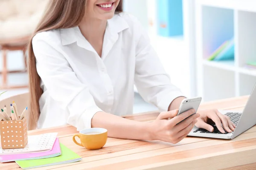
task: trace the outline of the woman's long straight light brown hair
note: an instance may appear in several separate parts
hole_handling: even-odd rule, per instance
[[[122,0],[116,8],[116,13],[122,12]],[[29,130],[37,127],[40,115],[39,99],[43,94],[40,87],[41,78],[36,70],[36,59],[32,48],[32,38],[38,32],[59,28],[78,26],[85,14],[86,0],[49,0],[44,16],[38,23],[28,43],[28,73],[29,73]]]

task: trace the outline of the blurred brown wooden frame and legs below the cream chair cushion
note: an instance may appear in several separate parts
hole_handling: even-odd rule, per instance
[[[3,57],[3,70],[0,72],[2,74],[2,88],[26,88],[28,85],[19,85],[19,86],[9,86],[7,84],[7,75],[9,73],[26,73],[27,71],[27,61],[26,61],[26,44],[29,42],[29,37],[18,37],[15,39],[9,40],[0,40],[0,50],[2,51]],[[7,53],[8,51],[23,51],[23,59],[25,68],[24,70],[14,70],[9,71],[7,69]]]

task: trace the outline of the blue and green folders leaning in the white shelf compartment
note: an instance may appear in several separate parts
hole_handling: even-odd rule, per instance
[[[234,40],[223,42],[208,58],[209,61],[234,60],[235,46]]]

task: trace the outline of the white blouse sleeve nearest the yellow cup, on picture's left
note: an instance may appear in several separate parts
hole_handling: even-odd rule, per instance
[[[38,75],[52,99],[60,103],[56,107],[69,112],[67,124],[77,130],[90,128],[94,114],[102,110],[94,102],[87,84],[79,81],[67,59],[51,45],[52,42],[50,37],[40,33],[32,40]]]

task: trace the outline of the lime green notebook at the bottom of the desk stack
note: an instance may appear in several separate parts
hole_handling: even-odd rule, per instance
[[[72,150],[64,146],[60,143],[61,147],[61,155],[53,158],[45,158],[45,159],[34,159],[34,160],[24,160],[24,161],[16,161],[16,163],[23,169],[30,169],[35,167],[46,167],[57,164],[65,164],[80,161],[81,157],[74,153]]]

